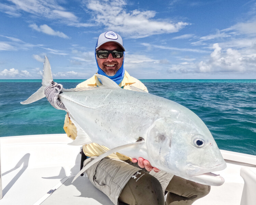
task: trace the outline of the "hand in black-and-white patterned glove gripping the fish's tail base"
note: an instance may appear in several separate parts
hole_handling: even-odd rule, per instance
[[[59,99],[59,94],[62,90],[62,87],[63,86],[61,84],[57,84],[52,81],[51,85],[44,88],[44,94],[54,108],[66,111],[65,105]]]

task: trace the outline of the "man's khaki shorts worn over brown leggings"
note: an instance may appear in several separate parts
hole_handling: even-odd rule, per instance
[[[86,159],[84,166],[95,158],[96,157],[91,157]],[[144,169],[136,167],[136,165],[138,164],[132,163],[130,160],[123,161],[103,158],[101,161],[89,167],[89,169],[86,170],[86,174],[94,187],[106,194],[115,205],[118,205],[118,197],[130,178],[132,176],[136,177],[135,173],[138,171],[145,171]],[[148,173],[160,181],[163,192],[174,176],[164,171],[158,173],[152,171]]]

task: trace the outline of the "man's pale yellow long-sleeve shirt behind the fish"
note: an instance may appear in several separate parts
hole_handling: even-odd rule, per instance
[[[143,83],[141,83],[138,79],[131,77],[128,74],[128,72],[125,71],[124,78],[123,78],[122,82],[119,84],[119,86],[121,88],[130,90],[130,87],[129,87],[130,85],[148,92],[148,89],[146,88],[146,86]],[[101,83],[99,82],[99,79],[95,75],[93,75],[91,78],[78,84],[76,87],[80,88],[80,87],[96,87],[96,86],[101,86]],[[77,137],[77,130],[76,130],[74,123],[69,119],[68,115],[66,115],[63,128],[64,128],[67,136],[70,137],[72,140],[75,140],[75,138]],[[82,148],[83,148],[85,155],[88,157],[99,156],[99,155],[101,155],[101,153],[108,150],[107,147],[96,144],[96,143],[90,143],[88,145],[83,145]],[[108,157],[121,159],[121,160],[130,159],[127,156],[121,155],[118,152],[115,154],[111,154]]]

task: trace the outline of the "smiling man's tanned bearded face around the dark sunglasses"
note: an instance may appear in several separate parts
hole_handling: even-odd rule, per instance
[[[101,45],[96,50],[123,50],[123,49],[115,42],[107,42]],[[124,56],[121,58],[113,58],[112,54],[109,54],[107,58],[98,58],[97,55],[96,55],[96,58],[101,70],[103,70],[108,76],[114,76],[116,72],[121,68],[123,64]]]

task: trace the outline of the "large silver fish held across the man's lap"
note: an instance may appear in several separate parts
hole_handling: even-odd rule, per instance
[[[134,87],[121,89],[111,79],[97,76],[102,86],[63,89],[59,96],[77,127],[78,136],[71,144],[94,142],[111,149],[91,163],[118,151],[131,158],[142,157],[160,170],[191,181],[223,184],[220,175],[210,172],[225,169],[226,163],[212,134],[195,113],[174,101]],[[45,97],[44,88],[51,81],[45,56],[42,87],[21,103]]]

